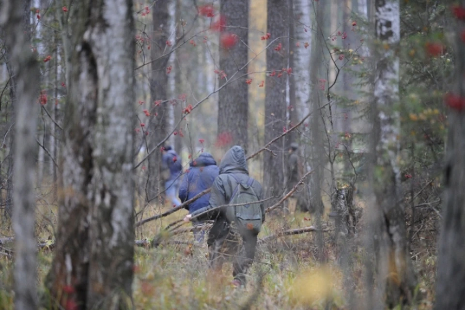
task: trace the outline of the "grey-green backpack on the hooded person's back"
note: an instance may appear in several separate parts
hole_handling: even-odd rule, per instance
[[[232,175],[233,176],[233,175]],[[226,207],[226,218],[234,222],[239,233],[260,233],[262,228],[262,208],[260,199],[252,188],[253,179],[249,178],[247,184],[242,184],[235,176],[237,186],[231,195]],[[241,205],[234,205],[241,204]]]

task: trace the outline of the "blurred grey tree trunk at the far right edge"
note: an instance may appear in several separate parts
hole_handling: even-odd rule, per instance
[[[459,1],[464,9],[465,0]],[[465,42],[460,35],[465,22],[457,21],[455,30],[455,84],[452,96],[465,98]],[[449,111],[449,133],[445,169],[445,199],[442,210],[442,231],[439,237],[436,302],[434,309],[458,310],[465,308],[465,268],[463,246],[465,233],[465,114]]]

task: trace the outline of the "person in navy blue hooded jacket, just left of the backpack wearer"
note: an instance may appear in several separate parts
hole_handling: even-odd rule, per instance
[[[184,176],[181,187],[179,188],[179,199],[181,199],[182,202],[210,188],[219,174],[217,162],[210,153],[202,153],[198,158],[192,160],[189,166],[188,172]],[[210,194],[206,194],[190,203],[185,208],[189,210],[189,213],[192,213],[206,207],[209,200]],[[193,225],[202,225],[205,219],[207,219],[206,215],[204,218],[196,218],[193,220]],[[198,242],[203,241],[204,234],[204,230],[194,229],[194,237]]]

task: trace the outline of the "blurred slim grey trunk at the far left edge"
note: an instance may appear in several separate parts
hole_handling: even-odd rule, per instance
[[[5,30],[15,68],[15,157],[13,230],[15,232],[15,308],[37,309],[37,262],[34,174],[39,95],[39,64],[29,48],[31,0],[3,1],[0,26]]]

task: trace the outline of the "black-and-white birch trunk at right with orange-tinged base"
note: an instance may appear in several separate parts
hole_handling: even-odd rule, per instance
[[[374,80],[377,108],[374,193],[381,212],[378,217],[381,233],[375,237],[381,240],[379,283],[386,281],[386,302],[392,308],[399,302],[411,301],[416,279],[406,240],[404,210],[399,203],[400,119],[394,107],[399,102],[399,57],[395,53],[400,40],[399,0],[376,0],[375,6],[375,35],[388,47],[378,51]]]

